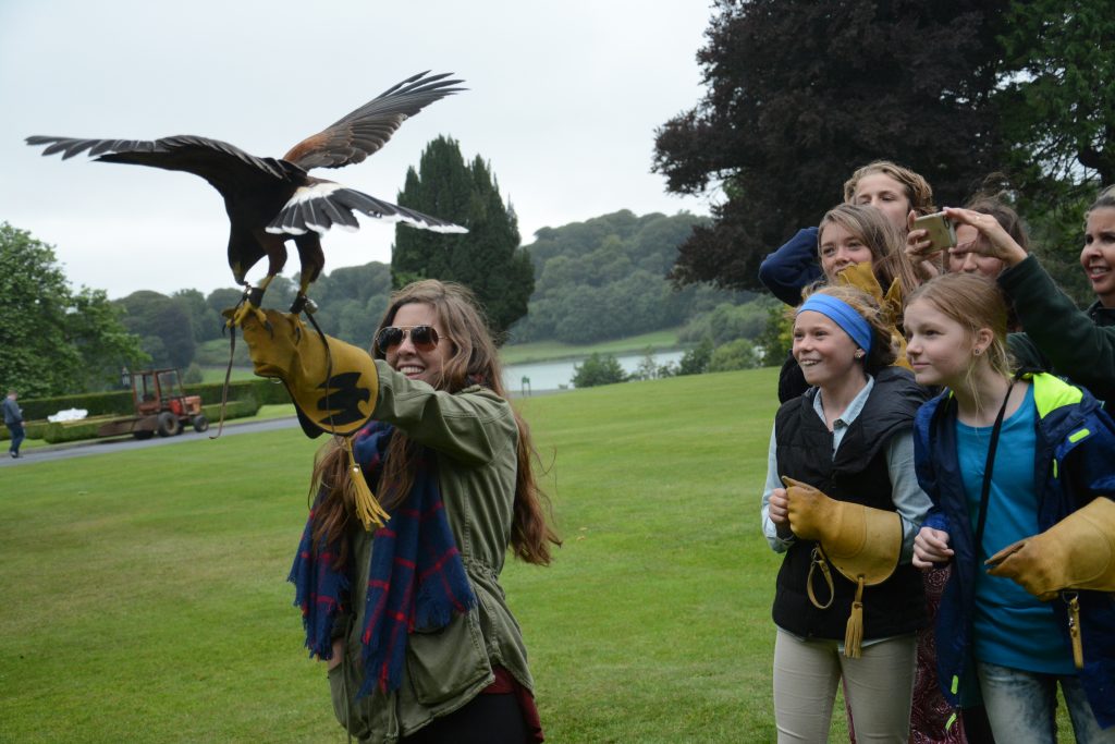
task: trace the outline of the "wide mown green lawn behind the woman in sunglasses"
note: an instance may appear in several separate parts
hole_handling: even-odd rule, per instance
[[[503,581],[549,741],[774,741],[776,371],[517,403],[565,539]],[[293,428],[4,468],[0,741],[346,741],[285,582],[317,446]]]

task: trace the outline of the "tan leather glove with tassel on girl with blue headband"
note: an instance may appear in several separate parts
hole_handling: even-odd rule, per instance
[[[809,568],[809,599],[821,609],[827,607],[813,596],[813,570],[818,566],[832,591],[826,559],[856,584],[844,634],[844,655],[859,658],[863,641],[863,588],[882,583],[898,568],[902,552],[902,519],[896,512],[831,499],[812,485],[785,475],[782,481],[786,484],[791,530],[803,540],[821,543]]]

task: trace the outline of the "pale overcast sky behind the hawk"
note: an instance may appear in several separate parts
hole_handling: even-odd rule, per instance
[[[71,284],[113,298],[233,286],[207,183],[42,157],[23,138],[196,134],[279,157],[426,69],[469,89],[363,163],[316,175],[394,202],[446,134],[491,163],[524,244],[620,209],[707,214],[704,199],[666,194],[650,164],[655,128],[701,96],[710,15],[707,0],[0,0],[0,221],[52,244]],[[394,235],[371,219],[330,232],[326,271],[390,261]]]

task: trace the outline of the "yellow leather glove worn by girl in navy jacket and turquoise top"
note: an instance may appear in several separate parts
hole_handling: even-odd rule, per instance
[[[1045,532],[987,559],[991,576],[1017,581],[1043,601],[1063,589],[1115,592],[1115,502],[1093,499]]]

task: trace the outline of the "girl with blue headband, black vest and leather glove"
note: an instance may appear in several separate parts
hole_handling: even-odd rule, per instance
[[[826,741],[843,680],[861,741],[906,741],[922,581],[910,564],[930,508],[913,471],[925,398],[892,366],[875,300],[852,287],[807,294],[794,358],[812,386],[778,409],[763,526],[784,553],[773,617],[778,741]]]

